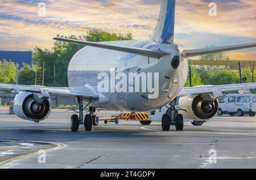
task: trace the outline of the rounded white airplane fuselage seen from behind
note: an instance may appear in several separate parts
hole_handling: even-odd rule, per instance
[[[90,46],[82,48],[69,63],[68,83],[72,87],[88,85],[98,93],[98,83],[100,82],[98,74],[101,72],[110,74],[113,69],[117,73],[124,72],[128,77],[129,72],[159,73],[159,96],[157,98],[145,98],[148,97],[149,93],[144,92],[103,92],[98,93],[100,96],[96,105],[106,109],[134,112],[154,110],[174,100],[184,87],[188,75],[188,62],[180,55],[179,46],[160,44],[152,40],[104,43],[115,46],[163,50],[171,55],[157,59]],[[180,57],[180,65],[176,70],[171,66],[174,56]]]

